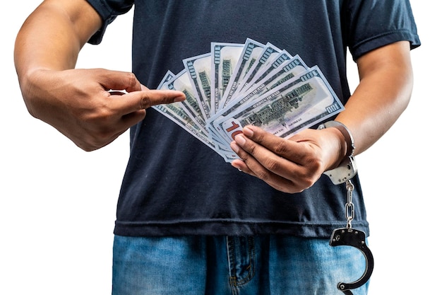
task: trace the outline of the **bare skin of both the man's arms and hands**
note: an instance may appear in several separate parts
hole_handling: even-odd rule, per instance
[[[86,1],[47,0],[23,24],[14,52],[30,114],[85,151],[100,149],[143,120],[145,108],[185,99],[178,91],[150,90],[132,73],[74,69],[81,48],[101,25]],[[413,83],[410,44],[368,52],[357,66],[359,86],[336,118],[352,132],[354,154],[369,149],[407,107]],[[281,139],[248,126],[231,144],[241,158],[232,166],[282,192],[301,192],[339,165],[347,144],[336,128],[305,129]]]

